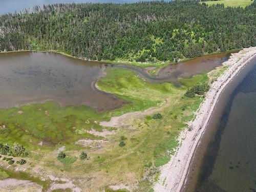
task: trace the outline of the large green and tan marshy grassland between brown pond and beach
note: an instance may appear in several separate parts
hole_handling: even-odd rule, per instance
[[[133,71],[108,68],[97,86],[130,101],[129,104],[101,114],[87,106],[60,107],[55,102],[1,109],[0,140],[10,146],[17,142],[26,147],[29,163],[24,167],[33,178],[37,178],[34,170],[46,168],[88,191],[106,187],[111,191],[108,186],[116,183],[137,183],[137,191],[148,191],[157,181],[158,167],[169,161],[178,146],[177,136],[187,129],[187,121],[194,118],[203,101],[201,96],[184,97],[185,91],[207,80],[206,74],[196,75],[179,79],[182,86],[175,87],[172,83],[147,82]],[[99,125],[100,121],[109,121],[113,116],[146,109],[151,110],[129,116],[120,127]],[[158,112],[163,118],[153,119]],[[91,128],[98,132],[114,130],[116,135],[96,136],[88,133]],[[75,143],[79,139],[105,142],[99,143],[99,147],[80,146]],[[125,142],[123,147],[119,146],[120,141]],[[67,157],[59,161],[58,148],[62,146]],[[82,151],[88,154],[87,160],[78,158]],[[1,175],[6,177],[4,172]]]

